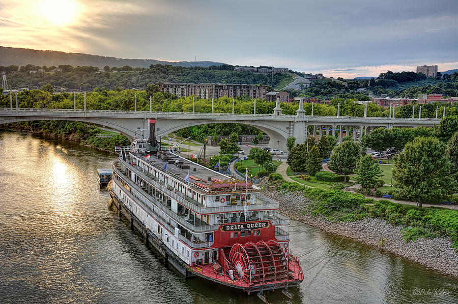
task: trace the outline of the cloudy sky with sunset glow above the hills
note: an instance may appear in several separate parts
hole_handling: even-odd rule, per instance
[[[458,0],[0,0],[0,45],[354,78],[458,69]]]

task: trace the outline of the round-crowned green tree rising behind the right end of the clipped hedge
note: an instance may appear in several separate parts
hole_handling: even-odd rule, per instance
[[[356,162],[361,156],[361,146],[353,141],[344,141],[334,148],[331,154],[329,168],[335,173],[352,174],[356,168]]]

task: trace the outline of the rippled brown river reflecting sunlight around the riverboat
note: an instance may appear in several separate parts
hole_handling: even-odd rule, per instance
[[[115,155],[0,130],[0,303],[262,303],[186,280],[130,229],[98,185]],[[458,280],[292,221],[305,279],[271,303],[458,303]],[[428,291],[429,290],[429,291]]]

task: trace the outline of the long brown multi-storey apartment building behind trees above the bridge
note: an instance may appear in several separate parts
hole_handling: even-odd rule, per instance
[[[170,93],[178,97],[194,95],[199,98],[219,98],[248,96],[250,98],[266,98],[267,87],[252,84],[221,84],[221,83],[163,83],[157,84],[163,93]]]

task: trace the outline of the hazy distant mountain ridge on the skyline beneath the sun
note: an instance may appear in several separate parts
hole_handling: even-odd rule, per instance
[[[41,51],[23,48],[11,48],[0,46],[0,65],[46,65],[58,66],[59,64],[70,64],[73,66],[97,66],[104,67],[122,67],[129,65],[131,67],[149,67],[151,64],[170,64],[174,66],[202,66],[221,65],[222,62],[214,61],[162,61],[155,59],[124,59],[107,56],[98,56],[82,53],[66,53],[60,51]]]

